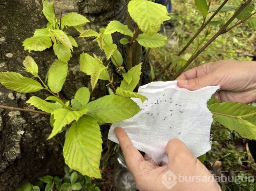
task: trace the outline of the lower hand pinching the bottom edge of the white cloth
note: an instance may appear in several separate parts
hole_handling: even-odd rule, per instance
[[[120,147],[123,151],[125,162],[132,173],[136,186],[140,191],[165,191],[169,190],[163,185],[162,176],[169,170],[176,176],[210,177],[208,169],[188,150],[187,146],[179,139],[172,139],[166,146],[166,154],[169,158],[167,165],[159,167],[155,163],[144,160],[140,152],[132,145],[124,129],[114,129]],[[188,177],[189,178],[189,177]],[[173,186],[172,191],[177,190],[221,190],[215,181],[179,181]]]

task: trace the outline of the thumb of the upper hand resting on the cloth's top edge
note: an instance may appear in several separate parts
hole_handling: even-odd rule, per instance
[[[209,75],[204,75],[202,77],[197,77],[190,80],[179,79],[177,85],[180,88],[185,88],[188,90],[197,90],[205,86],[212,86],[213,80]]]

